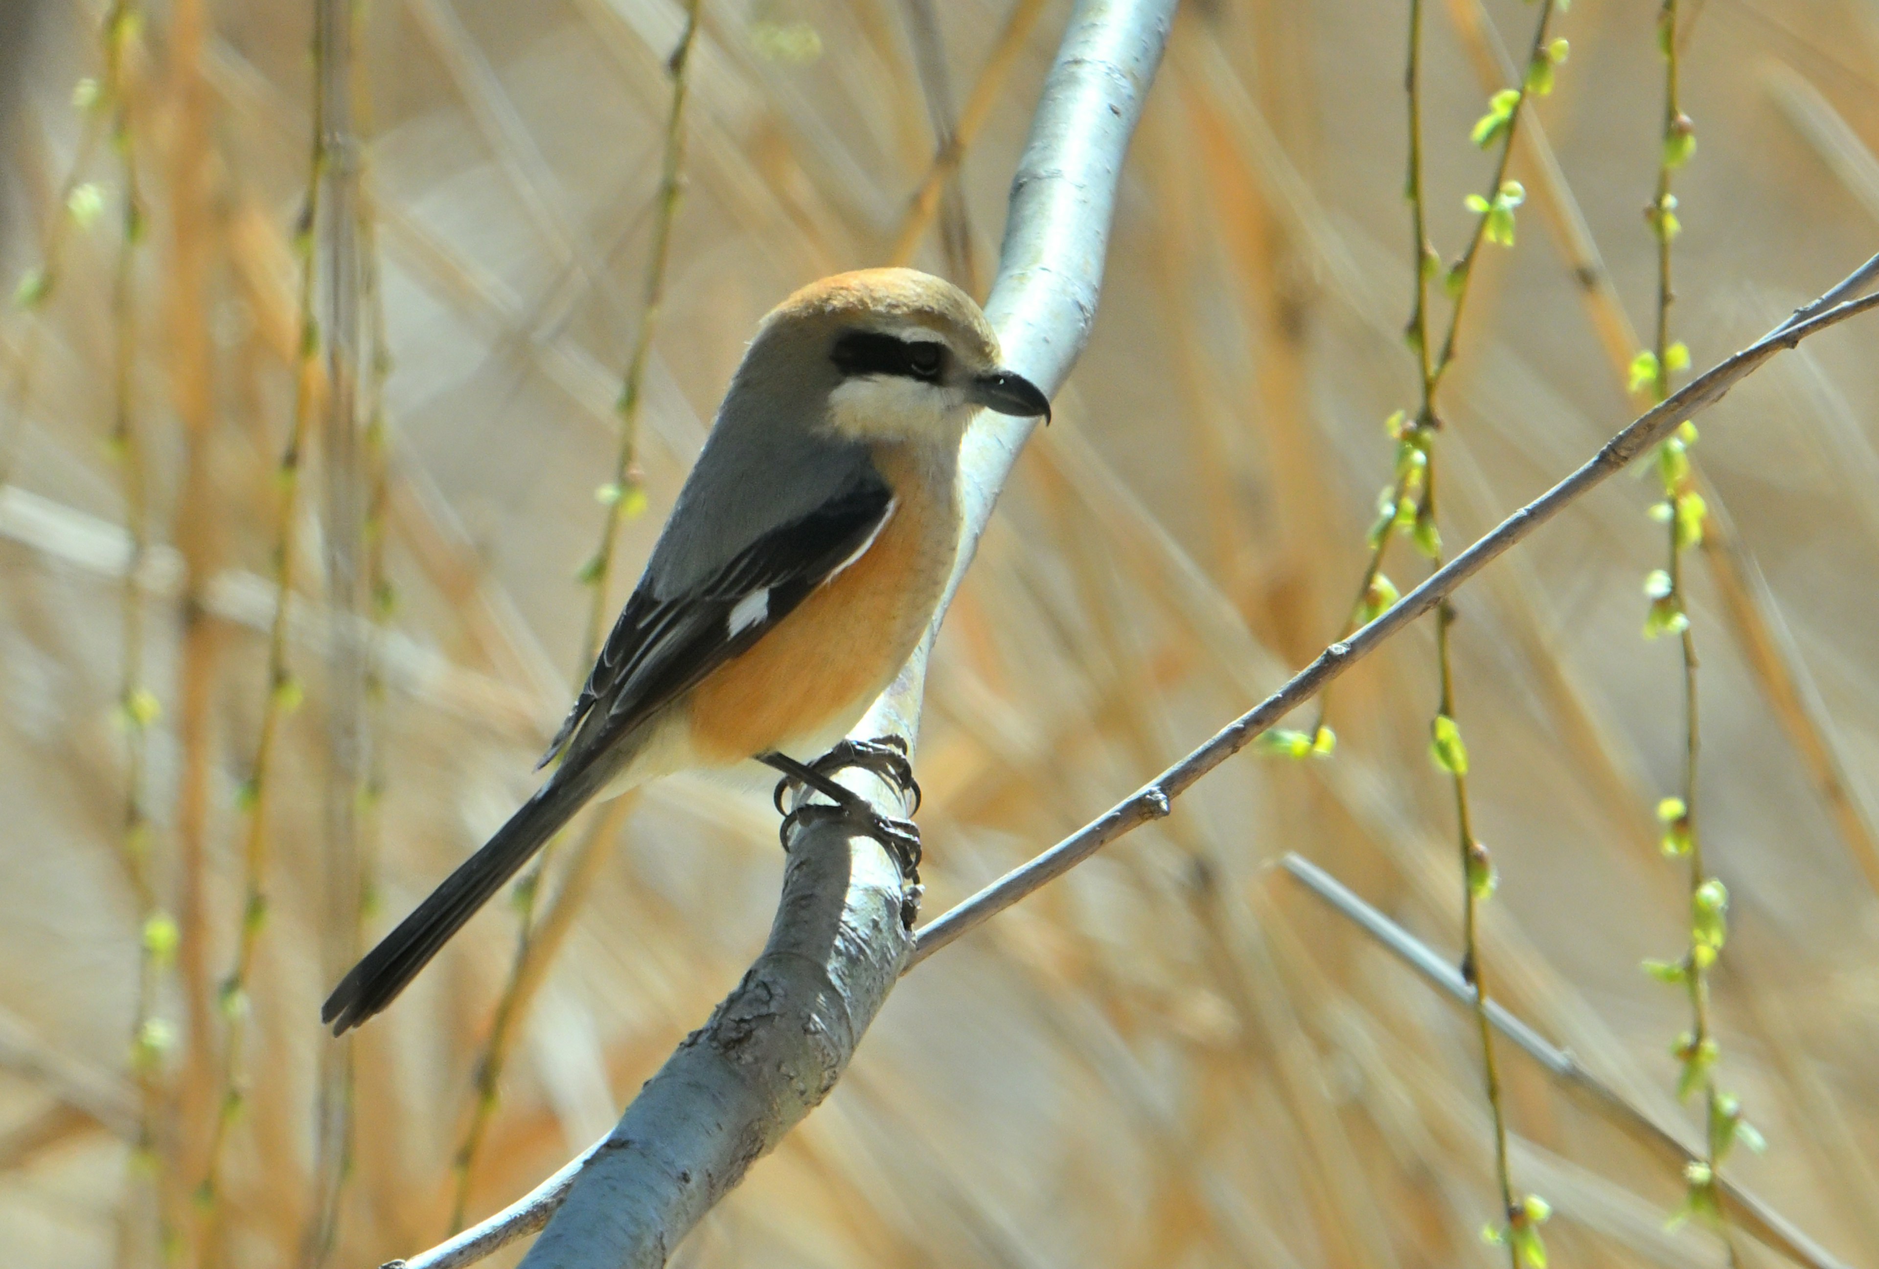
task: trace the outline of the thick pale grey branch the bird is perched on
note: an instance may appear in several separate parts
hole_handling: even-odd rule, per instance
[[[1095,319],[1116,182],[1161,64],[1174,0],[1079,0],[1011,184],[998,282],[986,304],[1005,364],[1054,392]],[[926,642],[857,736],[919,728],[926,653],[1033,420],[981,415],[962,452],[958,563]],[[898,794],[846,779],[883,811]],[[611,1134],[534,1194],[408,1261],[455,1269],[545,1233],[526,1269],[663,1265],[752,1162],[834,1087],[913,956],[902,880],[870,837],[799,826],[770,940],[710,1021],[641,1089]]]

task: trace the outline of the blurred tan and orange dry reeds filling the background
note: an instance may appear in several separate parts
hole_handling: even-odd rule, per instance
[[[705,1019],[782,858],[765,800],[682,779],[590,813],[349,1063],[318,1004],[532,787],[596,580],[611,618],[755,319],[898,250],[983,297],[1067,8],[707,0],[673,201],[680,4],[374,0],[359,90],[319,107],[365,137],[363,182],[329,148],[306,223],[314,71],[331,90],[344,56],[308,58],[310,4],[0,6],[0,263],[24,280],[0,321],[0,1261],[412,1254],[601,1134]],[[1452,257],[1494,161],[1469,128],[1539,9],[1424,8],[1424,193]],[[1648,400],[1627,370],[1655,325],[1657,17],[1554,19],[1573,51],[1514,148],[1518,242],[1483,248],[1443,387],[1451,550]],[[1700,148],[1676,173],[1674,336],[1700,368],[1879,242],[1879,8],[1685,0],[1682,30]],[[1090,353],[940,640],[928,914],[1338,634],[1392,481],[1385,417],[1417,405],[1405,36],[1404,2],[1184,6]],[[334,347],[319,323],[348,293],[357,342]],[[1732,899],[1716,1079],[1768,1139],[1727,1171],[1862,1265],[1871,338],[1809,342],[1704,419],[1685,573],[1702,841]],[[1499,869],[1490,987],[1697,1145],[1670,1055],[1689,1002],[1638,971],[1691,924],[1654,815],[1685,757],[1676,640],[1642,636],[1657,497],[1616,481],[1496,563],[1458,599],[1452,665]],[[1402,588],[1424,569],[1407,543],[1385,561]],[[1458,956],[1432,646],[1419,629],[1340,683],[1334,757],[1236,758],[921,967],[676,1263],[1507,1263],[1481,1239],[1499,1201],[1467,1012],[1272,867],[1298,850]],[[1725,1263],[1700,1220],[1665,1226],[1674,1160],[1505,1042],[1499,1070],[1554,1265]]]

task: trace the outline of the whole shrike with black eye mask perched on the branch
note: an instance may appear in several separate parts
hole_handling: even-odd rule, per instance
[[[333,1034],[391,1004],[582,805],[676,772],[763,762],[859,817],[909,873],[911,824],[804,757],[842,742],[923,638],[958,552],[960,443],[979,409],[1050,419],[951,282],[866,268],[770,310],[537,764],[552,772],[340,980],[319,1014]],[[836,758],[911,783],[904,749]]]

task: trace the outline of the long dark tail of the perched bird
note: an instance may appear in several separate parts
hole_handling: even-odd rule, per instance
[[[428,899],[351,967],[319,1008],[319,1021],[333,1023],[333,1034],[340,1036],[391,1004],[451,935],[599,790],[607,773],[596,772],[598,766],[607,764],[588,762],[586,770],[562,766],[481,850],[458,864]]]

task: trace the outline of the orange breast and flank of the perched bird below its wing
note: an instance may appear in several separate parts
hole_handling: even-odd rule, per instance
[[[691,749],[701,762],[787,753],[791,742],[857,717],[919,644],[953,571],[953,482],[915,479],[898,447],[881,447],[876,466],[894,509],[874,544],[693,689]]]

